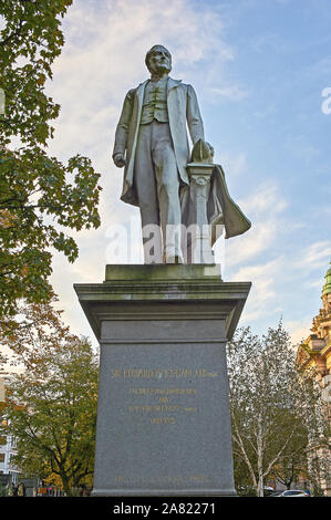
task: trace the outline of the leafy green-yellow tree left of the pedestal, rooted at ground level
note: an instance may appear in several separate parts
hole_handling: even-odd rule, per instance
[[[97,360],[90,342],[71,334],[49,303],[29,305],[21,318],[8,336],[21,373],[7,388],[3,434],[17,439],[12,462],[22,472],[58,476],[71,495],[93,474]]]

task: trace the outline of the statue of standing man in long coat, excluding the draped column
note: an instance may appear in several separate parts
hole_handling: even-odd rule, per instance
[[[151,229],[152,261],[180,263],[180,238],[174,230],[182,223],[180,189],[189,185],[186,124],[193,144],[204,141],[204,125],[193,87],[168,75],[169,51],[154,45],[145,63],[151,79],[126,94],[113,160],[125,167],[121,199],[141,210],[145,263],[151,262]]]

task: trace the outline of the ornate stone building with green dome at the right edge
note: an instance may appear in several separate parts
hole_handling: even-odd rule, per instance
[[[322,289],[322,309],[312,320],[311,334],[299,345],[297,365],[302,374],[318,384],[322,393],[323,416],[331,424],[331,268],[327,271]],[[331,446],[324,437],[312,443],[308,451],[310,464],[314,462],[319,485],[331,496]]]

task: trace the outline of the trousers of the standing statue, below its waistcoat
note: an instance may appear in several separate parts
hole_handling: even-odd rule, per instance
[[[139,126],[134,184],[142,218],[145,263],[172,262],[173,258],[180,258],[179,176],[168,123],[153,119]]]

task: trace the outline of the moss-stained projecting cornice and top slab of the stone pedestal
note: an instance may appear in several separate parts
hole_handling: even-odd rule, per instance
[[[218,266],[107,266],[103,283],[76,283],[74,290],[99,341],[103,321],[152,318],[224,319],[230,340],[250,287],[224,282]]]

